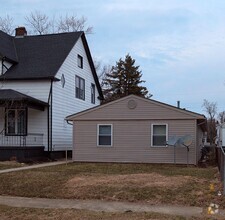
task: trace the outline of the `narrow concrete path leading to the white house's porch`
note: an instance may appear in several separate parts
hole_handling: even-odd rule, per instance
[[[21,170],[30,170],[30,169],[41,168],[41,167],[56,166],[56,165],[67,164],[67,163],[71,163],[71,162],[72,162],[71,160],[67,160],[67,161],[64,160],[64,161],[47,162],[47,163],[40,163],[40,164],[35,164],[35,165],[28,165],[28,166],[24,166],[24,167],[4,169],[4,170],[0,170],[0,174],[16,172],[16,171],[21,171]]]

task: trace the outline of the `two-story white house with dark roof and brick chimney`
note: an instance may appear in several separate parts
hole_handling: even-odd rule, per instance
[[[84,32],[27,36],[20,27],[12,37],[0,31],[0,74],[0,159],[38,147],[72,149],[65,117],[103,98]]]

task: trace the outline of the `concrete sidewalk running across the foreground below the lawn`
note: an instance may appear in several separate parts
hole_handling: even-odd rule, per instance
[[[104,212],[158,212],[185,217],[201,216],[203,209],[172,205],[148,205],[146,203],[111,202],[102,200],[44,199],[0,196],[0,204],[11,207],[84,209]]]

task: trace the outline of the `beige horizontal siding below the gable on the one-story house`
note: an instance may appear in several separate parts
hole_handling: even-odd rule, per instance
[[[132,163],[187,163],[187,149],[180,147],[152,147],[151,125],[168,124],[168,136],[191,135],[189,164],[196,164],[196,120],[108,120],[74,122],[74,161],[132,162]],[[97,146],[97,125],[113,125],[113,146]]]

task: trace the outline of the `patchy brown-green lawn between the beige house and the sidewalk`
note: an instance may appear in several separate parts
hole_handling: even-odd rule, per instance
[[[224,208],[225,201],[217,196],[218,177],[216,167],[70,163],[1,174],[0,194],[200,207],[214,202]]]

